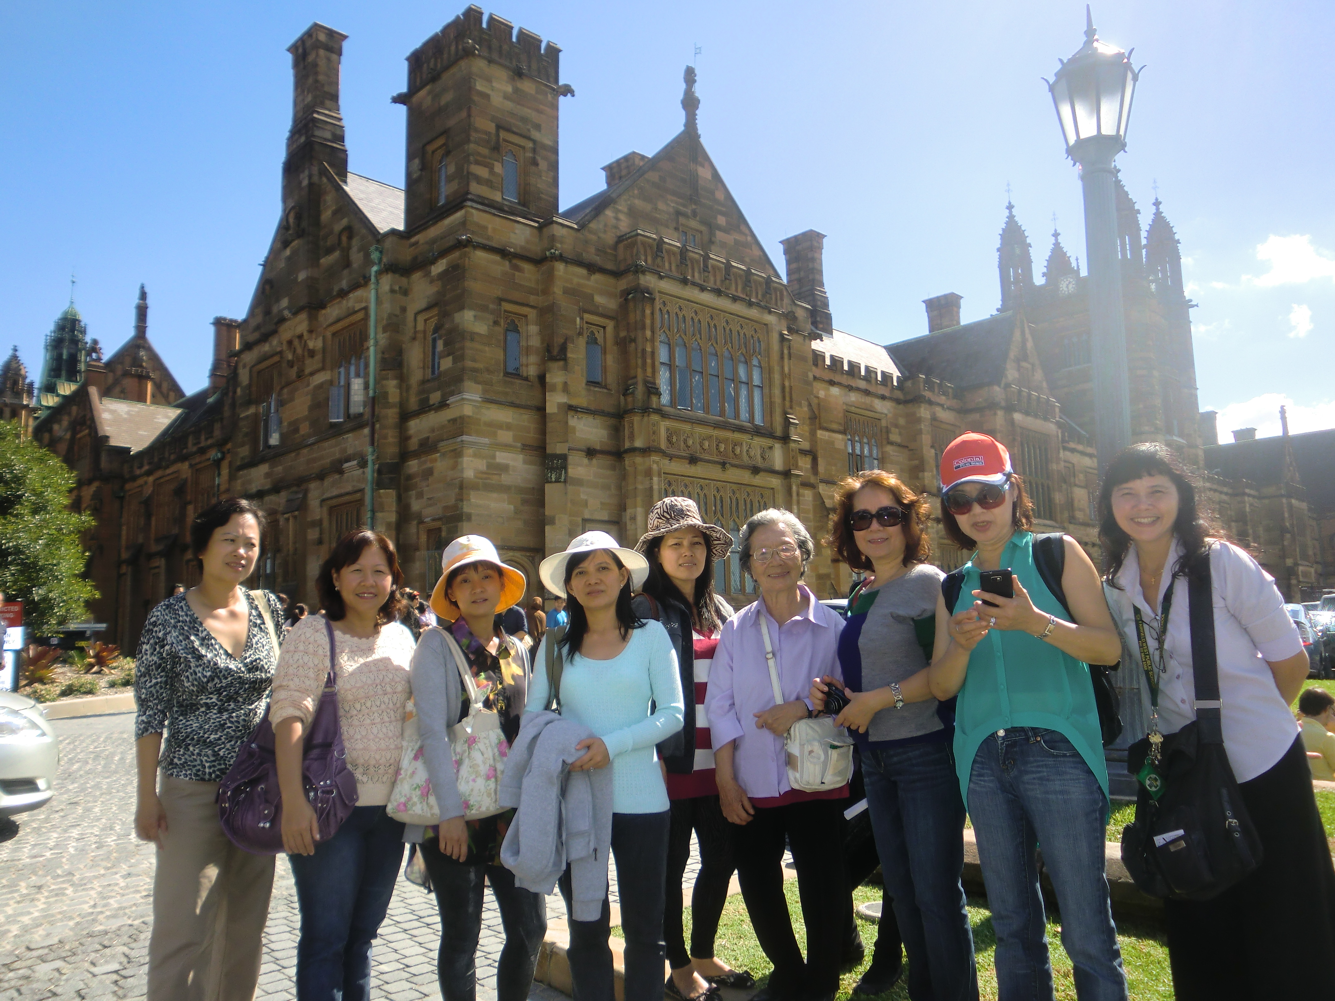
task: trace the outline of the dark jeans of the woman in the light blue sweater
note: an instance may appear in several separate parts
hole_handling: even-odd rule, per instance
[[[617,861],[621,896],[621,932],[626,937],[625,996],[629,1000],[663,994],[663,900],[668,884],[668,829],[670,811],[611,814],[611,857]],[[559,881],[570,914],[570,868]],[[570,980],[574,1001],[613,1001],[611,949],[607,934],[611,910],[607,898],[597,921],[569,921]]]

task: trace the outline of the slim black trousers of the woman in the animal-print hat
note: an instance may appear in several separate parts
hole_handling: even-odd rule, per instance
[[[674,970],[697,960],[714,958],[714,936],[728,902],[728,884],[733,878],[733,830],[717,795],[697,795],[672,801],[672,826],[668,830],[668,896],[663,908],[663,942],[668,962]],[[700,841],[700,873],[690,893],[690,952],[682,930],[682,876],[690,861],[690,833]]]

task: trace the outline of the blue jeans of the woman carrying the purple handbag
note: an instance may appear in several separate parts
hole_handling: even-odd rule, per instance
[[[366,1001],[371,942],[403,861],[403,825],[383,806],[356,806],[314,856],[288,856],[302,934],[296,1001]]]

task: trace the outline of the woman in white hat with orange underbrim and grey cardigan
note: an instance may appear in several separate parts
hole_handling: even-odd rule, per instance
[[[423,631],[413,655],[422,758],[441,807],[439,826],[426,829],[422,862],[441,910],[437,976],[446,1001],[473,1001],[477,993],[474,956],[482,932],[483,885],[491,886],[506,932],[497,964],[498,1001],[529,997],[547,930],[543,898],[515,886],[514,874],[501,865],[501,842],[514,810],[466,819],[470,803],[459,791],[450,749],[450,731],[469,717],[473,701],[461,666],[471,674],[482,713],[499,717],[502,758],[519,731],[529,658],[523,645],[494,622],[498,611],[523,601],[526,586],[523,574],[501,562],[490,539],[455,539],[441,554],[441,581],[431,594],[431,609],[442,626]],[[497,787],[503,763],[485,777]]]

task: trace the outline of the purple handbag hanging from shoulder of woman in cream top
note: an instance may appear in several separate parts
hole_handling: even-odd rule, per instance
[[[356,778],[347,766],[338,721],[338,679],[334,675],[334,627],[330,637],[330,673],[324,693],[306,731],[302,781],[319,821],[320,842],[334,837],[356,806]],[[218,817],[223,833],[243,852],[276,856],[283,852],[283,802],[274,757],[274,726],[268,713],[236,753],[236,761],[218,783]]]

